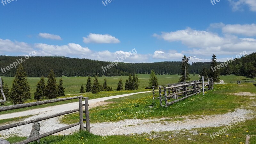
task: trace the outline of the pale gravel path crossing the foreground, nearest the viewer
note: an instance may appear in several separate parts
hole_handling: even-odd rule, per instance
[[[98,135],[128,135],[131,133],[149,133],[151,131],[160,132],[160,131],[173,131],[173,130],[190,130],[192,128],[203,128],[203,127],[218,127],[218,126],[227,126],[229,124],[235,125],[234,123],[240,121],[241,118],[248,119],[248,114],[253,113],[253,111],[245,109],[236,109],[234,112],[229,112],[223,115],[215,116],[205,116],[200,119],[186,119],[182,122],[165,122],[164,119],[151,119],[151,120],[124,120],[114,123],[95,123],[91,124],[91,132]],[[161,121],[161,123],[160,123]],[[45,121],[41,121],[40,133],[49,132],[57,128],[66,126],[66,124],[58,123],[58,118],[53,118]],[[5,135],[8,133],[17,134],[19,136],[28,136],[31,130],[32,124],[27,124],[20,128],[12,128],[7,131],[1,131],[0,135]],[[104,129],[104,130],[102,130]],[[73,127],[71,129],[56,133],[58,134],[69,134],[76,130],[79,130],[79,126]],[[111,133],[112,132],[112,133]],[[0,136],[1,137],[1,136]]]

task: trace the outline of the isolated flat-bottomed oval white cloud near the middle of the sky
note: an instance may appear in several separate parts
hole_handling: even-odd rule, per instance
[[[108,34],[92,34],[90,33],[87,37],[83,37],[84,43],[98,43],[98,44],[116,44],[120,43],[119,39],[115,36],[111,36]]]

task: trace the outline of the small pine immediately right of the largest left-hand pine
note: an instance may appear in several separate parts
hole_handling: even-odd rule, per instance
[[[40,101],[44,99],[45,92],[45,82],[44,77],[42,76],[40,81],[36,84],[36,92],[34,93],[34,100]]]

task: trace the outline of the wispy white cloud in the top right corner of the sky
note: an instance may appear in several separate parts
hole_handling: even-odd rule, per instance
[[[233,11],[243,11],[242,6],[249,6],[252,12],[256,12],[256,1],[255,0],[228,0],[232,6]]]

